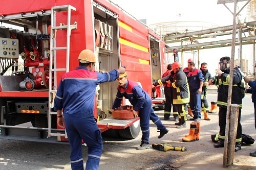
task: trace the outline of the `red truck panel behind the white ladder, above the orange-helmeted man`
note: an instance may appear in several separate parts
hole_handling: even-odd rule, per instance
[[[59,0],[56,6],[72,5],[76,8],[76,11],[71,12],[71,24],[77,22],[77,29],[71,31],[70,36],[70,68],[74,70],[78,66],[79,53],[88,48],[94,51],[93,46],[93,12],[92,4],[90,0],[84,1],[70,1]],[[56,14],[56,23],[67,23],[67,12],[60,12]],[[67,31],[58,30],[56,35],[56,46],[67,46]],[[57,51],[57,68],[66,67],[66,50]],[[63,72],[58,74],[57,82],[60,81]]]

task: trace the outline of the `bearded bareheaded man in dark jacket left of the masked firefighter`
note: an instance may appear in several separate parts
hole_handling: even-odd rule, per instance
[[[204,84],[203,84],[202,93],[201,93],[201,108],[204,113],[204,119],[210,120],[210,118],[208,117],[209,105],[207,102],[207,87],[209,85],[208,81],[209,79],[211,79],[211,75],[207,69],[207,63],[202,63],[200,69],[204,76]]]

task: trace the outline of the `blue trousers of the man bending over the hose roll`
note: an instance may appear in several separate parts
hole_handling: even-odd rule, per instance
[[[158,115],[156,115],[156,113],[154,112],[151,103],[148,103],[143,108],[140,108],[139,116],[140,128],[142,131],[141,140],[143,142],[150,142],[150,120],[152,120],[152,122],[156,124],[158,130],[165,128]]]

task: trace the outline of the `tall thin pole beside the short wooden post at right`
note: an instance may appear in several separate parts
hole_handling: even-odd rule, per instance
[[[234,0],[232,45],[231,45],[231,63],[230,63],[230,72],[229,72],[229,88],[228,88],[228,99],[227,99],[226,130],[225,130],[225,143],[224,143],[224,153],[223,153],[223,167],[226,167],[226,165],[227,165],[229,116],[230,116],[230,105],[231,105],[232,86],[233,86],[234,50],[235,50],[235,47],[236,47],[237,4],[238,4],[238,0]]]

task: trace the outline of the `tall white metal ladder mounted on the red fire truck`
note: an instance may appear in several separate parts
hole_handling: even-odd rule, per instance
[[[74,22],[74,25],[70,24],[71,21],[71,11],[75,11],[76,8],[72,7],[71,5],[64,5],[64,6],[56,6],[52,7],[51,10],[51,40],[50,40],[50,68],[49,68],[49,110],[48,110],[48,137],[57,136],[57,139],[60,140],[60,137],[66,137],[66,131],[60,129],[52,129],[52,115],[56,115],[57,112],[52,111],[52,105],[54,96],[57,92],[57,71],[66,71],[69,72],[69,58],[70,58],[70,35],[71,30],[76,29],[77,22]],[[68,22],[67,25],[63,25],[60,23],[56,26],[56,12],[68,12]],[[57,30],[67,30],[67,46],[56,46],[56,32]],[[56,51],[58,50],[66,50],[66,68],[56,68],[57,61],[56,61]],[[63,58],[65,60],[65,58]],[[54,78],[54,81],[52,82]],[[53,133],[53,131],[55,133]],[[65,133],[57,133],[57,132],[65,132]]]

